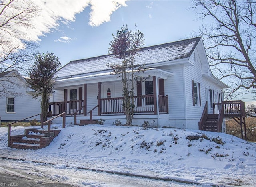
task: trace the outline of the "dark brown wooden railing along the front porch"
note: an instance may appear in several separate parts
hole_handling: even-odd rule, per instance
[[[168,114],[168,95],[141,95],[134,96],[134,114]],[[124,115],[123,97],[100,98],[98,105],[92,110],[98,110],[97,116],[102,115]],[[66,112],[66,116],[87,116],[92,113],[86,111],[84,100],[50,102],[48,117],[57,116]]]

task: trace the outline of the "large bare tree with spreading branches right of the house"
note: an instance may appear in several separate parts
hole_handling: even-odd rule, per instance
[[[212,71],[228,82],[231,96],[253,93],[256,97],[256,2],[252,0],[194,0],[198,19],[209,19],[213,24],[202,24],[198,32],[204,39]]]

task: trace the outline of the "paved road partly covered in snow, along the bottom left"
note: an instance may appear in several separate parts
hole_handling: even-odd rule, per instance
[[[107,172],[77,169],[65,165],[33,163],[0,159],[1,186],[18,187],[184,187],[193,184],[176,183],[141,177],[122,176]]]

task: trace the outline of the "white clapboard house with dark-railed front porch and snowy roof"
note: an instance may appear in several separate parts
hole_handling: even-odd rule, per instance
[[[106,66],[118,62],[110,54],[63,66],[56,73],[50,116],[66,112],[68,122],[93,118],[110,124],[118,119],[125,124],[121,79]],[[150,78],[134,82],[134,125],[148,121],[198,130],[202,128],[198,124],[205,121],[203,113],[207,116],[220,109],[216,104],[222,102],[223,89],[228,86],[212,75],[201,37],[144,47],[136,63],[148,68],[140,75]]]

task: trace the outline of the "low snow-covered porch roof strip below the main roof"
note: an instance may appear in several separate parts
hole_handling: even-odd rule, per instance
[[[144,73],[140,73],[140,76],[151,77],[156,76],[161,79],[168,79],[168,77],[174,75],[172,72],[164,71],[162,69],[149,68]],[[113,75],[112,71],[105,73],[96,73],[93,75],[84,75],[80,77],[70,77],[66,79],[56,80],[54,85],[54,89],[62,90],[65,87],[74,86],[74,85],[83,85],[90,83],[98,83],[98,82],[109,82],[109,81],[121,81],[121,77],[117,77],[117,75]]]

